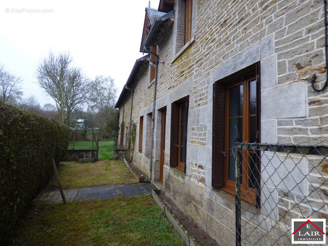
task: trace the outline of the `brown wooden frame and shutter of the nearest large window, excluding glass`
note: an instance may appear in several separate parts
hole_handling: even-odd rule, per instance
[[[212,145],[212,186],[235,195],[235,182],[228,179],[229,174],[229,89],[243,84],[243,131],[242,141],[250,140],[250,82],[256,80],[256,142],[260,141],[260,67],[259,62],[242,71],[232,74],[213,85],[213,145]],[[247,85],[247,86],[245,86]],[[254,116],[254,115],[253,115]],[[225,155],[223,155],[225,153]],[[243,180],[241,198],[253,205],[259,206],[260,189],[258,185],[250,187],[250,151],[242,150]],[[259,153],[256,153],[260,156]],[[254,175],[259,183],[260,161],[256,158],[259,172]],[[249,176],[249,177],[248,177]]]

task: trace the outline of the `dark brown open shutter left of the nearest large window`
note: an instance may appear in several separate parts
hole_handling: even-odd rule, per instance
[[[213,84],[212,186],[224,187],[224,87]],[[226,153],[228,154],[228,153]]]

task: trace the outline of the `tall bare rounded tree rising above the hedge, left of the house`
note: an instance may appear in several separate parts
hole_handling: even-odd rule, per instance
[[[90,81],[81,68],[72,66],[70,53],[49,52],[39,64],[36,78],[40,87],[56,103],[58,120],[68,124],[72,110],[81,108],[88,99]]]

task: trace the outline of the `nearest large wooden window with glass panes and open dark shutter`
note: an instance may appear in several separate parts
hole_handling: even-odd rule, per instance
[[[225,85],[214,84],[212,186],[235,195],[235,142],[259,142],[259,64],[256,72]],[[233,79],[232,79],[233,80]],[[236,130],[237,129],[237,130]],[[258,153],[243,150],[241,198],[259,204]],[[246,182],[245,182],[246,181]]]

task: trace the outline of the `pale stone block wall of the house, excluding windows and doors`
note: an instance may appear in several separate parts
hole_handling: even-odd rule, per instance
[[[166,109],[165,193],[203,229],[208,216],[208,233],[218,243],[234,245],[235,197],[212,190],[211,185],[213,83],[260,62],[261,142],[314,144],[327,139],[328,88],[314,92],[310,85],[313,73],[317,74],[317,88],[326,79],[323,3],[198,0],[194,6],[194,40],[180,48],[175,43],[174,24],[158,44],[159,60],[164,64],[158,69],[152,178],[159,176],[159,110]],[[139,122],[139,117],[144,116],[143,151],[134,150],[133,162],[147,174],[150,154],[147,115],[152,112],[153,93],[149,67],[145,67],[136,78],[133,103],[133,120]],[[186,95],[189,95],[187,168],[183,173],[169,166],[170,122],[171,103]],[[127,99],[127,119],[129,105]],[[280,195],[277,193],[271,202],[278,202],[283,197]],[[265,206],[260,211],[263,215]]]

